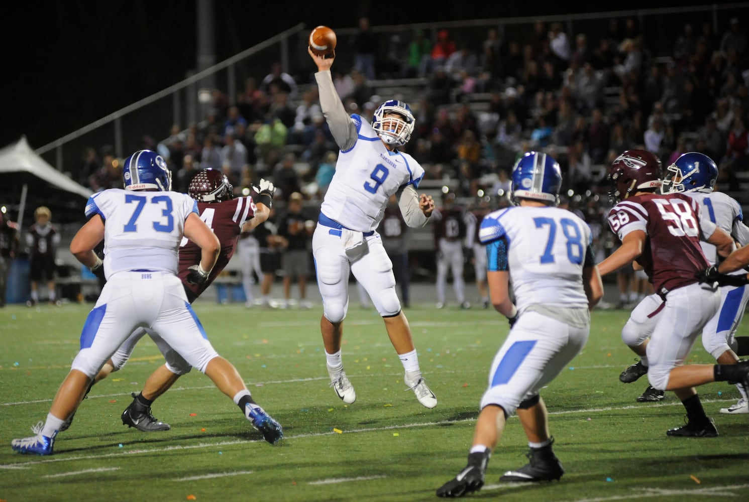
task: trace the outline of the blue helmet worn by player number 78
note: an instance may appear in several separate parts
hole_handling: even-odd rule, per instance
[[[528,152],[512,168],[512,202],[518,198],[533,201],[560,202],[562,171],[551,155]]]

